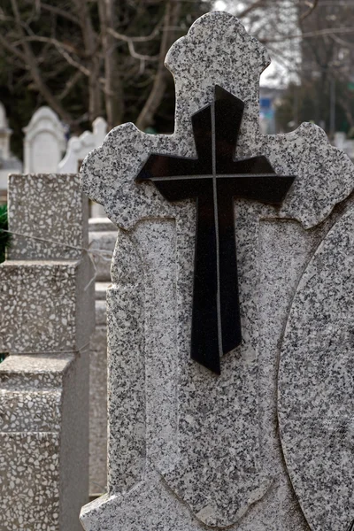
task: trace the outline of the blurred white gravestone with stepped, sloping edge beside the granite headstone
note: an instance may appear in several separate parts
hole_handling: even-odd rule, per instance
[[[104,118],[96,118],[92,123],[92,133],[85,131],[82,135],[72,136],[67,143],[65,157],[59,162],[58,173],[76,173],[80,170],[82,160],[89,151],[98,148],[107,135],[107,122]]]

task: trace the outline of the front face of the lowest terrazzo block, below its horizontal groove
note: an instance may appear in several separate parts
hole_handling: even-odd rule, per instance
[[[58,531],[59,434],[0,431],[0,448],[0,529]]]

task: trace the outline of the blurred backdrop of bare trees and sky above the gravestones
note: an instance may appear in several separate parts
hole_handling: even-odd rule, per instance
[[[171,133],[166,51],[215,9],[238,16],[273,58],[261,78],[262,129],[288,132],[312,121],[350,151],[354,0],[2,0],[0,136],[7,130],[10,142],[3,165],[6,157],[12,166],[23,160],[23,128],[43,105],[66,140],[91,130],[97,117],[108,130],[133,121]]]

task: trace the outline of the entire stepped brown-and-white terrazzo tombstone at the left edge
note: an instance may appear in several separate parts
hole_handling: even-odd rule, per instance
[[[9,354],[0,364],[0,528],[79,531],[95,317],[78,175],[12,175],[9,228],[18,234],[0,266],[0,351]]]

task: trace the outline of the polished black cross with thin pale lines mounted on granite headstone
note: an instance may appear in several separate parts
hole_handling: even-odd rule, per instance
[[[221,87],[192,116],[197,158],[151,154],[136,177],[167,201],[196,199],[191,358],[220,373],[220,356],[241,342],[234,197],[281,204],[295,177],[266,157],[234,160],[244,104]]]

